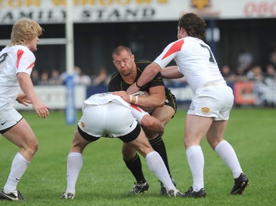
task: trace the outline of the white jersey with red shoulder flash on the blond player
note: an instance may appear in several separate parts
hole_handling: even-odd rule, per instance
[[[17,73],[30,75],[34,67],[34,54],[23,45],[3,48],[0,52],[0,107],[13,103],[21,88],[17,81]]]

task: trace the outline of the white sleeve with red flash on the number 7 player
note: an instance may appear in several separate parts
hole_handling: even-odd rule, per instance
[[[178,52],[181,51],[182,45],[184,45],[184,39],[179,39],[178,41],[170,43],[154,62],[159,64],[162,69],[165,68],[172,59],[175,59]]]

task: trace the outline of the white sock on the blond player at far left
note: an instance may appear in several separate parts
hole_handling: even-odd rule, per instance
[[[10,193],[17,189],[17,184],[19,183],[21,176],[26,172],[29,164],[30,162],[17,152],[12,161],[8,181],[3,188],[5,193]]]

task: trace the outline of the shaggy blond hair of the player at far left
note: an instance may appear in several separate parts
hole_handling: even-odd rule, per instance
[[[31,19],[20,19],[12,26],[11,45],[28,45],[35,37],[42,34],[43,28]]]

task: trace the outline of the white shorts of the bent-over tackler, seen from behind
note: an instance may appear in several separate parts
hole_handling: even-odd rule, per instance
[[[129,107],[109,102],[104,105],[86,105],[78,125],[91,136],[117,137],[132,132],[137,121]]]

